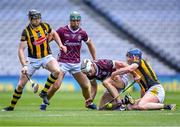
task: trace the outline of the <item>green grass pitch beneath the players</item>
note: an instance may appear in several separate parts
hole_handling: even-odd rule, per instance
[[[12,92],[0,93],[1,109],[10,103],[11,96]],[[165,102],[176,103],[176,111],[92,111],[84,108],[80,92],[58,92],[47,111],[40,111],[41,99],[24,92],[15,111],[0,112],[0,126],[180,126],[180,93],[166,93]]]

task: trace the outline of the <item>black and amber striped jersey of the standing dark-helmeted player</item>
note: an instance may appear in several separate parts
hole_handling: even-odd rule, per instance
[[[37,28],[29,24],[22,32],[21,41],[27,41],[28,57],[43,58],[51,54],[47,36],[51,33],[51,27],[47,23],[40,23]]]

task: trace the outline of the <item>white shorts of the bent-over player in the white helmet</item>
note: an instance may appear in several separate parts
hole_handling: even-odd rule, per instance
[[[126,87],[128,84],[131,84],[134,82],[134,77],[131,73],[127,73],[121,76],[122,81],[124,82],[124,87]]]

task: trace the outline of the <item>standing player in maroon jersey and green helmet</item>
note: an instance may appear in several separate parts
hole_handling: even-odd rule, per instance
[[[81,15],[77,11],[73,11],[70,14],[70,24],[64,27],[60,27],[57,30],[62,43],[67,47],[67,53],[61,52],[58,56],[60,74],[58,81],[49,89],[48,99],[50,100],[54,93],[61,86],[62,80],[66,72],[73,75],[76,81],[79,83],[82,94],[85,98],[85,106],[87,108],[96,109],[96,106],[92,103],[90,90],[89,90],[89,80],[86,75],[81,72],[80,63],[80,50],[82,41],[86,43],[88,49],[91,53],[93,60],[96,59],[96,50],[92,40],[88,37],[86,31],[80,27]],[[42,104],[40,109],[46,110],[47,105]]]

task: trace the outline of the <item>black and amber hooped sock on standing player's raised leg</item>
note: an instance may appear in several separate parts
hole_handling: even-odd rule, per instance
[[[42,92],[47,93],[47,91],[49,90],[49,88],[51,87],[52,84],[54,84],[56,82],[57,78],[55,78],[52,74],[49,75],[49,77],[47,78],[47,81],[45,83],[44,89],[42,90]]]

